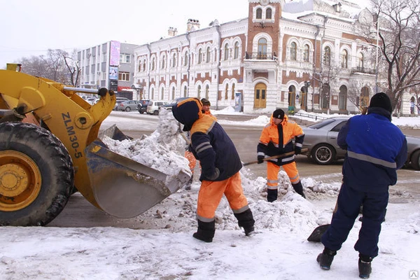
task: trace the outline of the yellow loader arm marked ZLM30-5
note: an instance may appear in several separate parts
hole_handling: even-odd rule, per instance
[[[98,137],[102,121],[109,116],[116,96],[106,91],[97,104],[90,105],[71,87],[45,78],[17,71],[0,70],[1,109],[25,105],[43,127],[54,134],[67,148],[75,170],[74,185],[98,207],[92,191],[85,148]]]

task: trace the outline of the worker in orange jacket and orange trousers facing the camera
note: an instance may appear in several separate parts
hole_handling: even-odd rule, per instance
[[[294,146],[293,139],[295,139]],[[265,125],[261,132],[260,141],[257,146],[258,163],[264,162],[264,158],[293,151],[295,155],[299,155],[302,151],[303,139],[304,132],[302,127],[288,120],[283,110],[276,109],[269,120],[269,124]],[[268,202],[277,200],[280,167],[283,167],[287,173],[295,192],[305,198],[299,173],[297,172],[295,155],[285,155],[280,158],[267,160]]]

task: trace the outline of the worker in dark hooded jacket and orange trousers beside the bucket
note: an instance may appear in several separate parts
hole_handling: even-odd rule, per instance
[[[198,230],[193,237],[213,241],[215,215],[223,195],[246,236],[254,232],[254,219],[241,185],[239,155],[228,134],[212,116],[202,113],[200,99],[185,99],[172,107],[183,131],[190,131],[192,152],[200,160],[200,191],[197,200]]]

